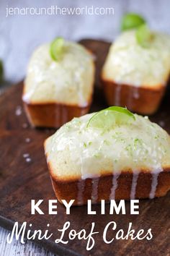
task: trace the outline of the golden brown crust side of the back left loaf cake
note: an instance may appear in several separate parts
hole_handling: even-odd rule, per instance
[[[61,127],[73,117],[88,113],[88,106],[69,106],[61,103],[25,103],[24,109],[32,127]]]

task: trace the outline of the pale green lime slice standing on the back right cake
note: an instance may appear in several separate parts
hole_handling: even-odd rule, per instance
[[[148,47],[153,35],[146,24],[141,25],[135,32],[135,37],[140,46]]]

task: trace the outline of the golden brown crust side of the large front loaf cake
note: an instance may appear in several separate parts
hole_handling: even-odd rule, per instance
[[[94,179],[77,179],[73,177],[70,181],[58,179],[53,176],[50,164],[48,163],[48,168],[50,172],[50,178],[53,184],[53,189],[56,197],[61,202],[61,200],[75,200],[73,205],[84,205],[87,200],[93,199],[94,184],[96,183],[97,197],[95,203],[100,202],[100,200],[109,201],[112,186],[113,186],[113,175],[109,174],[102,175],[99,178]],[[117,178],[117,188],[115,189],[115,200],[130,200],[130,192],[132,192],[133,184],[133,172],[123,171]],[[140,171],[138,174],[138,179],[135,187],[135,199],[148,198],[151,193],[151,187],[153,184],[153,179],[156,174],[151,174],[148,171]],[[157,178],[156,178],[157,179]],[[156,191],[154,192],[154,197],[162,197],[166,195],[170,190],[170,167],[165,168],[164,171],[158,174],[157,179],[158,184],[156,184]],[[81,197],[81,198],[80,198]],[[133,198],[134,199],[134,198]],[[93,202],[93,200],[92,200]]]

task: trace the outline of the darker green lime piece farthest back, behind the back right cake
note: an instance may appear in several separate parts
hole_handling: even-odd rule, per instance
[[[131,30],[143,25],[144,23],[146,23],[146,20],[143,17],[131,12],[122,17],[121,30]]]

